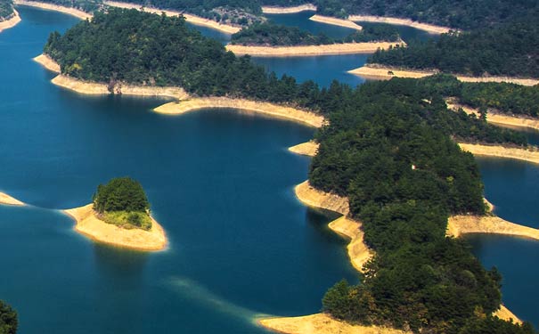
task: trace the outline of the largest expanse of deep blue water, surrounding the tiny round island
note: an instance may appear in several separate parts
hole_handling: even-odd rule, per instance
[[[87,96],[49,81],[31,58],[76,19],[20,7],[0,34],[0,298],[20,333],[257,333],[257,314],[317,312],[326,289],[357,282],[334,216],[293,187],[310,160],[287,151],[314,130],[237,110],[179,117],[165,99]],[[130,175],[151,200],[169,248],[96,244],[58,208],[88,203],[99,183]],[[35,206],[35,207],[34,207]]]

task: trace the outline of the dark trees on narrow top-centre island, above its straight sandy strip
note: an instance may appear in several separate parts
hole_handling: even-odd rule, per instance
[[[366,27],[355,31],[344,38],[331,38],[324,34],[314,35],[308,31],[284,25],[265,22],[254,24],[249,28],[241,29],[234,34],[231,43],[234,45],[330,45],[335,43],[388,41],[400,40],[398,30],[388,24]]]

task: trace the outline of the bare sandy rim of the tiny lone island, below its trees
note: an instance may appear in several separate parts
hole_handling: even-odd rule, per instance
[[[167,235],[155,219],[151,218],[151,230],[123,229],[107,224],[95,216],[93,204],[71,208],[62,212],[73,217],[75,230],[92,240],[124,248],[139,250],[163,250],[167,248]]]

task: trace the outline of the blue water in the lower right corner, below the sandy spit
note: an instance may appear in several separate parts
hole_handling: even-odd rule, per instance
[[[475,234],[466,237],[473,253],[486,268],[502,273],[502,299],[521,320],[539,328],[539,242],[502,235]]]

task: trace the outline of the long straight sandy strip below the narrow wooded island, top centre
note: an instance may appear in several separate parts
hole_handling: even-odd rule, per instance
[[[228,51],[236,55],[250,54],[258,57],[302,57],[329,54],[375,53],[378,49],[389,46],[404,45],[404,42],[365,42],[343,43],[332,45],[298,45],[298,46],[257,46],[226,45]]]

